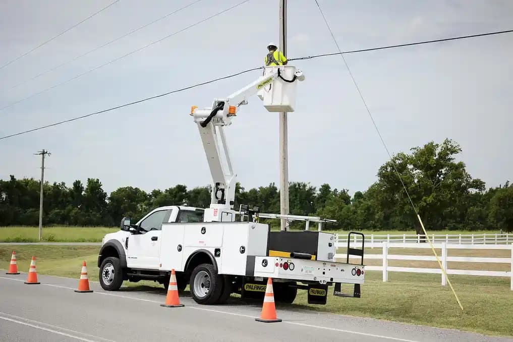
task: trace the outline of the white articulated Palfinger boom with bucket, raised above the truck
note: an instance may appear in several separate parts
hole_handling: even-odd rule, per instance
[[[283,75],[293,76],[293,78],[287,80]],[[210,108],[198,109],[198,107],[192,106],[190,115],[194,117],[194,122],[200,130],[203,148],[212,174],[211,202],[210,208],[205,210],[205,222],[233,222],[235,220],[236,212],[233,211],[233,204],[236,174],[231,165],[223,127],[231,125],[232,117],[236,116],[240,106],[247,105],[250,96],[261,90],[264,91],[264,88],[267,87],[269,87],[269,91],[265,91],[263,96],[259,97],[264,100],[264,106],[268,111],[278,111],[283,106],[293,107],[295,85],[294,87],[292,85],[296,79],[303,81],[305,76],[294,66],[266,67],[264,75],[226,98],[214,99]],[[277,80],[280,82],[276,82]],[[222,145],[225,163],[221,157],[220,145]]]

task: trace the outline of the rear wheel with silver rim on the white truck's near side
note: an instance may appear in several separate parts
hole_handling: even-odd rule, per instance
[[[198,304],[214,304],[223,291],[223,277],[210,264],[201,264],[192,271],[189,281],[192,299]]]

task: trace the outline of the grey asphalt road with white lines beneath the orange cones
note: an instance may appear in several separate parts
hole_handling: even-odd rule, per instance
[[[97,272],[96,268],[88,269]],[[456,330],[405,325],[277,305],[280,323],[260,323],[261,305],[233,298],[201,306],[181,297],[182,308],[165,308],[166,290],[122,288],[76,293],[78,279],[0,273],[0,341],[513,341]],[[340,300],[345,300],[341,298]]]

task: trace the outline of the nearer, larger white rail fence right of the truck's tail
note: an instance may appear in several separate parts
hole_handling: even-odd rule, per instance
[[[343,247],[343,246],[340,246]],[[346,246],[347,247],[347,246]],[[360,244],[351,243],[351,248],[359,248]],[[445,276],[440,268],[415,268],[415,267],[393,267],[388,266],[388,260],[416,260],[416,261],[437,261],[435,255],[396,255],[388,254],[389,248],[431,248],[429,244],[416,244],[416,243],[373,243],[372,246],[366,244],[366,247],[380,247],[383,248],[382,254],[365,254],[365,259],[380,259],[383,262],[383,266],[365,266],[365,270],[368,271],[382,271],[383,281],[388,281],[388,272],[413,272],[413,273],[436,273],[442,274],[442,286],[446,285]],[[460,245],[460,244],[446,244],[437,243],[433,244],[433,247],[441,249],[441,255],[438,254],[440,262],[447,274],[462,274],[462,275],[481,275],[490,277],[509,277],[510,289],[513,291],[513,244],[511,245]],[[450,249],[497,249],[497,250],[510,250],[511,254],[509,257],[496,258],[496,257],[469,257],[469,256],[448,256],[447,250]],[[346,259],[347,254],[335,254],[337,259]],[[457,270],[447,269],[448,261],[456,261],[458,263],[498,263],[498,264],[509,264],[510,271],[481,271],[481,270]]]

